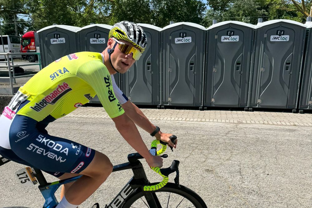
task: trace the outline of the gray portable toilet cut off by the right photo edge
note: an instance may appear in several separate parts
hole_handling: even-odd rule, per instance
[[[299,113],[303,110],[312,110],[312,23],[306,24],[307,43],[305,51],[305,65],[301,82]]]

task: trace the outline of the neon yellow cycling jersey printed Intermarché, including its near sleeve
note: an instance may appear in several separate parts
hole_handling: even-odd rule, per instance
[[[88,103],[95,94],[110,118],[124,113],[115,97],[102,55],[78,52],[64,56],[39,71],[20,87],[11,102],[22,103],[25,100],[17,114],[42,121],[49,115],[58,119],[69,114]]]

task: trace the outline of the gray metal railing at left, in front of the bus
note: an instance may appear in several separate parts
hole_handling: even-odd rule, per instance
[[[15,76],[14,68],[15,67],[22,67],[22,66],[31,66],[31,65],[39,65],[39,70],[41,70],[41,58],[40,58],[40,53],[33,52],[33,53],[27,53],[27,55],[38,55],[38,60],[39,63],[29,63],[29,64],[20,64],[20,65],[14,65],[14,61],[12,56],[13,55],[25,55],[25,53],[0,53],[0,56],[4,56],[5,61],[0,61],[0,63],[6,63],[6,65],[0,65],[0,71],[7,71],[9,72],[9,77],[0,77],[0,79],[7,79],[9,78],[10,80],[10,86],[11,86],[11,93],[14,94],[14,89],[13,89],[13,82],[15,82],[15,78],[22,78],[22,77],[31,77],[31,75],[21,75],[21,76]],[[1,69],[6,69],[6,70],[1,70]],[[11,71],[13,75],[11,74]]]

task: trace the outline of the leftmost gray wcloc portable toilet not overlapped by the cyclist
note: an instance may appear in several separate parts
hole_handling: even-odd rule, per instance
[[[161,105],[202,106],[206,28],[178,22],[162,30]]]

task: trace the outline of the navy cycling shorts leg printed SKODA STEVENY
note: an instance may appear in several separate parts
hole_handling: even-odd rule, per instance
[[[30,120],[26,116],[16,115],[10,128],[10,145],[13,152],[33,167],[51,174],[80,173],[92,161],[95,150],[74,141],[51,136],[39,131],[36,125],[23,122]],[[19,128],[18,128],[19,127]],[[27,130],[29,136],[18,141],[18,133]],[[26,134],[27,134],[26,133]],[[59,175],[55,174],[56,177]]]

